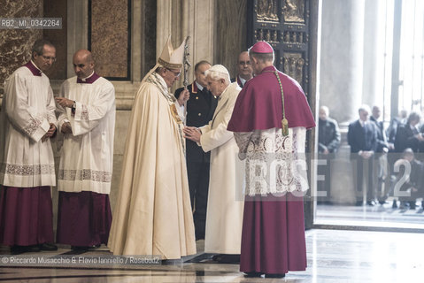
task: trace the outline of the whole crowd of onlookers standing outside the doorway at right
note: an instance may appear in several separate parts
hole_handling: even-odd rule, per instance
[[[374,206],[393,200],[392,207],[424,208],[424,126],[420,113],[403,110],[385,126],[382,110],[364,104],[358,108],[358,119],[347,131],[351,172],[356,205]],[[331,204],[330,164],[336,158],[342,141],[335,119],[327,106],[320,107],[318,203]],[[324,163],[322,163],[324,161]],[[420,205],[416,205],[421,201]],[[398,205],[399,203],[399,205]]]

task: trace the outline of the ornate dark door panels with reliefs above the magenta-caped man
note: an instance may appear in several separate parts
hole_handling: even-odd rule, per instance
[[[254,0],[248,7],[248,44],[269,42],[275,50],[274,65],[310,88],[310,2],[312,0]]]

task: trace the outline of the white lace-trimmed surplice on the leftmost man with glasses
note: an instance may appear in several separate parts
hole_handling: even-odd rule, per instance
[[[55,186],[50,123],[57,125],[49,78],[25,66],[5,81],[0,111],[0,184],[9,187]]]

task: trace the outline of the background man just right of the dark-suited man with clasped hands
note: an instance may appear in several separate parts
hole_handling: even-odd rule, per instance
[[[379,121],[382,111],[379,106],[374,106],[370,121],[374,123],[377,130],[377,149],[374,154],[374,171],[377,179],[377,198],[381,204],[386,203],[389,194],[389,183],[386,183],[388,172],[387,153],[389,152],[389,142],[387,142],[386,132],[382,121]],[[383,187],[383,184],[385,186]]]

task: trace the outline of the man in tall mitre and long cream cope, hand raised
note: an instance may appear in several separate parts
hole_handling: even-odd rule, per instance
[[[169,37],[135,95],[108,243],[114,255],[196,253],[181,122],[189,91],[177,100],[168,89],[180,77],[183,49],[184,42],[173,50]]]

